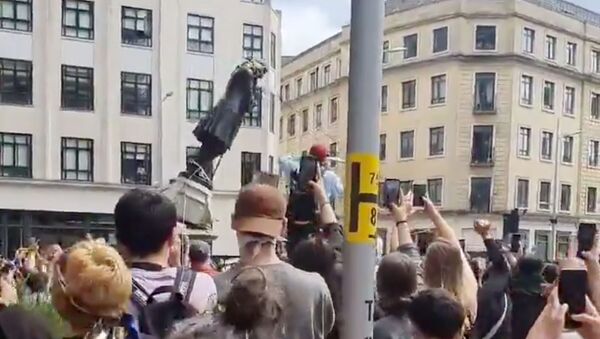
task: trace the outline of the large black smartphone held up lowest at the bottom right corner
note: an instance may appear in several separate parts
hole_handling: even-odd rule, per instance
[[[571,318],[573,314],[585,313],[585,294],[587,287],[587,271],[562,270],[558,278],[558,298],[561,304],[569,305],[565,327],[569,329],[581,326]]]

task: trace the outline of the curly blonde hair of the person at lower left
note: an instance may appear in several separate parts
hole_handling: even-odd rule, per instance
[[[99,320],[117,322],[131,296],[131,273],[119,253],[105,243],[75,244],[56,263],[52,303],[74,329],[91,329]]]

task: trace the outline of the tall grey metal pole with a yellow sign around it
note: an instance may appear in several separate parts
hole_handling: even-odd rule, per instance
[[[342,338],[373,337],[384,0],[352,0]]]

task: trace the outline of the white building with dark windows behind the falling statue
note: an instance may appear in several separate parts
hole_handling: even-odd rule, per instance
[[[261,108],[214,179],[214,254],[236,255],[236,193],[277,155],[280,19],[269,0],[1,1],[0,253],[108,237],[125,191],[185,169],[198,117],[253,56]]]

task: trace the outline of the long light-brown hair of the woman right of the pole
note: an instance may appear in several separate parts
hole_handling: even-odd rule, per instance
[[[427,248],[423,280],[429,288],[443,288],[463,305],[467,300],[463,286],[464,264],[460,248],[438,238]]]

